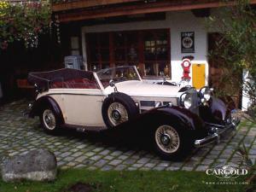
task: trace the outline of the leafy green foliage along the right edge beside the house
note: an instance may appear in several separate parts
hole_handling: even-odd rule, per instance
[[[251,114],[255,114],[256,105],[256,11],[247,0],[236,1],[236,6],[227,7],[218,17],[210,17],[207,21],[223,34],[214,51],[209,57],[221,60],[224,73],[220,81],[230,84],[234,93],[243,89],[252,107]],[[243,83],[242,72],[249,72],[248,81]],[[218,90],[218,94],[234,94]]]

